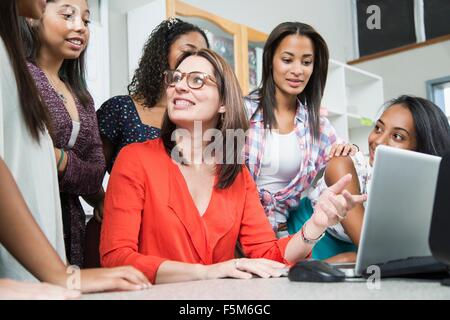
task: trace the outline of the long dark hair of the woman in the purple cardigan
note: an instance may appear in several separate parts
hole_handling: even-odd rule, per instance
[[[57,0],[47,0],[47,3],[55,1]],[[39,38],[40,28],[41,23],[29,23],[25,18],[21,18],[20,31],[25,44],[25,56],[34,64],[36,64],[36,59],[42,45]],[[59,69],[59,77],[69,85],[70,90],[84,107],[92,103],[92,97],[89,94],[85,76],[86,50],[87,48],[83,50],[77,59],[64,60]]]

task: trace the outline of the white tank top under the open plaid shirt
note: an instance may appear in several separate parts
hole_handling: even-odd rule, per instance
[[[287,187],[300,172],[302,158],[295,130],[288,134],[267,130],[258,188],[274,194]]]

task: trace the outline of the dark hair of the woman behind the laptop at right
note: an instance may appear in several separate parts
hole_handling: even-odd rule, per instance
[[[416,151],[443,156],[450,151],[450,125],[447,116],[433,102],[419,97],[402,95],[387,103],[386,109],[400,104],[412,114],[416,130]]]

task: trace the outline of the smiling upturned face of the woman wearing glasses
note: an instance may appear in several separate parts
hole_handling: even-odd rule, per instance
[[[167,87],[167,108],[170,120],[178,128],[191,128],[195,121],[201,121],[203,129],[215,128],[220,113],[225,112],[221,106],[219,90],[214,78],[214,68],[203,57],[189,56],[181,62],[177,70],[182,73],[201,72],[214,80],[206,79],[200,89],[191,89],[186,76],[174,86]]]

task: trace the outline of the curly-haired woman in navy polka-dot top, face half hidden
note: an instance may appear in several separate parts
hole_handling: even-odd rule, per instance
[[[183,52],[206,47],[204,31],[180,19],[164,20],[152,31],[128,95],[109,99],[97,111],[108,172],[123,147],[159,137],[166,110],[164,71],[173,69]]]

